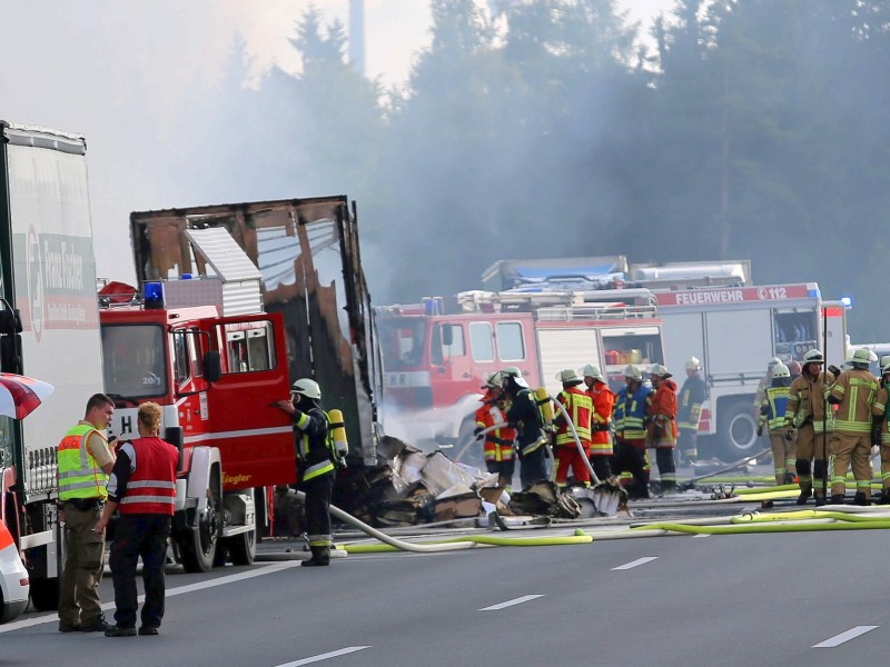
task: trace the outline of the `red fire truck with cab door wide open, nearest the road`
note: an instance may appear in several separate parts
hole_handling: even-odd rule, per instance
[[[99,292],[109,435],[138,437],[145,401],[182,449],[174,546],[189,571],[249,565],[275,485],[295,481],[284,319],[263,312],[259,271],[221,228],[189,231],[216,276],[109,283]]]

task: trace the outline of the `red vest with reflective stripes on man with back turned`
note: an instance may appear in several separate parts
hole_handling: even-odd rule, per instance
[[[121,515],[174,515],[179,451],[158,437],[125,442],[108,479],[108,497]]]

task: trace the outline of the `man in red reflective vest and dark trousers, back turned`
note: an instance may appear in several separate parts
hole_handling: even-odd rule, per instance
[[[105,631],[106,637],[136,635],[136,564],[140,556],[146,601],[139,634],[157,635],[164,618],[164,567],[176,506],[179,451],[158,437],[161,420],[158,404],[139,406],[136,419],[139,437],[120,446],[108,480],[108,502],[95,528],[101,535],[115,509],[120,512],[109,558],[116,625]]]

